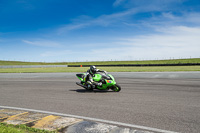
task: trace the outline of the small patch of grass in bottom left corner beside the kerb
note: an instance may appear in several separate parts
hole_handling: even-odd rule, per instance
[[[40,130],[26,125],[0,123],[0,133],[57,133],[57,131]]]

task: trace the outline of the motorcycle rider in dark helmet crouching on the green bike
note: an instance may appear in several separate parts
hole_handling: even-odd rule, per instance
[[[84,77],[85,82],[88,84],[87,87],[89,90],[93,90],[95,88],[95,85],[101,86],[101,82],[95,82],[92,77],[94,77],[94,74],[96,72],[104,72],[107,74],[106,71],[102,71],[100,69],[97,69],[95,66],[90,66],[90,69],[87,70],[86,75]]]

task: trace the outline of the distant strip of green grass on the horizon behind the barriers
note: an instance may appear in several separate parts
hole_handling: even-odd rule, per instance
[[[200,63],[200,58],[174,59],[174,60],[147,60],[147,61],[98,61],[98,62],[20,62],[20,61],[0,61],[0,65],[119,65],[119,64],[180,64],[180,63]]]

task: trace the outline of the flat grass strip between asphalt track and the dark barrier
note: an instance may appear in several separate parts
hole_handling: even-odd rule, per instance
[[[159,66],[159,67],[98,67],[108,72],[176,72],[200,71],[200,66]],[[0,73],[55,73],[55,72],[86,72],[88,67],[57,67],[57,68],[0,68]]]

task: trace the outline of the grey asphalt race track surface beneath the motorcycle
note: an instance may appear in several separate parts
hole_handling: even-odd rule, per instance
[[[200,132],[200,72],[112,74],[119,93],[85,91],[75,73],[2,73],[0,105]]]

